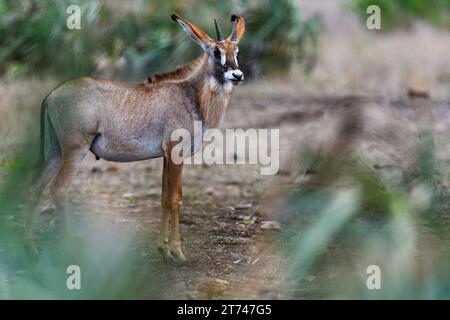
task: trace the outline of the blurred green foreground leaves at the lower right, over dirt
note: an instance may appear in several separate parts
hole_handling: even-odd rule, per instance
[[[450,298],[450,197],[437,188],[432,134],[419,138],[417,172],[403,185],[347,155],[339,170],[336,159],[323,161],[318,177],[292,190],[283,213],[287,297]],[[380,290],[366,286],[371,265],[381,270]]]

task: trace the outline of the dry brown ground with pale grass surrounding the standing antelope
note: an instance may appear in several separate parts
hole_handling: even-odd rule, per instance
[[[305,15],[319,14],[325,21],[315,70],[306,76],[294,69],[285,78],[237,88],[224,123],[227,128],[280,129],[279,174],[261,176],[253,165],[185,166],[181,234],[187,266],[165,265],[156,250],[161,160],[115,164],[96,161],[91,154],[85,159],[70,191],[71,220],[75,225],[95,221],[111,237],[115,232],[132,235],[128,250],[138,258],[133,272],[148,279],[140,284],[141,298],[324,297],[326,279],[319,270],[306,278],[303,289],[289,291],[280,230],[267,223],[279,220],[288,190],[314,175],[310,164],[299,160],[302,152],[326,153],[344,143],[388,184],[400,185],[413,170],[417,133],[428,126],[438,161],[450,161],[448,35],[427,26],[371,34],[334,1],[303,3]],[[14,124],[35,117],[54,85],[39,79],[2,82],[1,163],[20,142],[17,132],[23,128]],[[431,99],[408,98],[411,85],[425,87]],[[342,126],[353,131],[342,135]],[[26,129],[37,132],[35,125]],[[450,175],[444,168],[440,179],[447,187]],[[48,198],[44,194],[41,203],[40,239],[54,231]],[[421,230],[421,238],[434,241],[426,227]],[[76,234],[83,238],[89,232]],[[108,236],[99,241],[108,242]],[[338,245],[330,246],[333,251]],[[432,254],[448,250],[448,241],[438,248]],[[339,255],[334,263],[345,265]]]

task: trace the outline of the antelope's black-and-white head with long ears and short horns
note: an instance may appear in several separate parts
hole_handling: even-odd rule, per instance
[[[221,83],[231,82],[234,85],[244,80],[244,74],[239,70],[239,47],[238,43],[245,32],[244,18],[235,14],[231,15],[233,28],[231,35],[224,38],[222,30],[216,19],[216,40],[210,38],[205,31],[193,23],[183,19],[176,13],[172,13],[172,20],[178,22],[187,34],[198,43],[208,55],[209,63],[213,67],[214,76]]]

